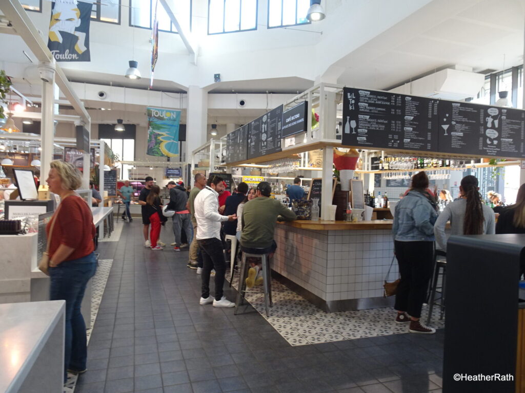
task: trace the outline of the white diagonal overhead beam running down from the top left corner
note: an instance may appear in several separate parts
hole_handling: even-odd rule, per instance
[[[37,28],[27,16],[20,2],[18,0],[3,0],[0,2],[0,8],[38,61],[53,62],[53,54],[51,54],[51,51],[47,48],[46,42],[38,33]],[[58,64],[55,65],[55,83],[66,96],[69,103],[75,108],[79,116],[82,117],[85,122],[89,122],[90,117],[88,111],[86,111],[86,108],[67,80],[66,74]]]

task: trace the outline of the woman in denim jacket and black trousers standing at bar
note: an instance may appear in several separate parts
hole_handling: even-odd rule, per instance
[[[435,329],[419,321],[434,260],[434,223],[437,205],[429,194],[428,177],[419,172],[412,188],[395,207],[394,250],[401,281],[397,286],[394,308],[397,323],[410,322],[409,332],[433,334]]]

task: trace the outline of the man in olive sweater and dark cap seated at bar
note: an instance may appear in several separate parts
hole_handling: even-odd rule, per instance
[[[254,254],[269,254],[271,258],[277,244],[274,240],[277,221],[293,221],[295,213],[276,199],[270,199],[271,185],[261,181],[257,185],[256,198],[245,203],[241,217],[243,231],[240,234],[240,244],[245,248],[257,248]],[[261,250],[262,249],[262,250]],[[254,250],[255,251],[255,250]],[[246,278],[248,288],[262,283],[259,263],[250,263]]]

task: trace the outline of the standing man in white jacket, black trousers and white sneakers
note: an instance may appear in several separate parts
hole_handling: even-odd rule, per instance
[[[235,221],[235,214],[220,215],[218,196],[224,189],[223,179],[212,176],[207,185],[196,196],[194,202],[195,219],[197,220],[196,239],[203,259],[202,294],[200,304],[213,303],[213,307],[235,307],[223,296],[226,261],[224,260],[223,243],[220,240],[220,223]],[[209,275],[215,269],[215,299],[209,295]]]

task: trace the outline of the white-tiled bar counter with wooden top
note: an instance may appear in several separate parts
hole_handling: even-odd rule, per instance
[[[392,221],[278,224],[272,269],[328,312],[386,307],[383,283],[394,255]],[[397,263],[388,281],[397,278]]]

